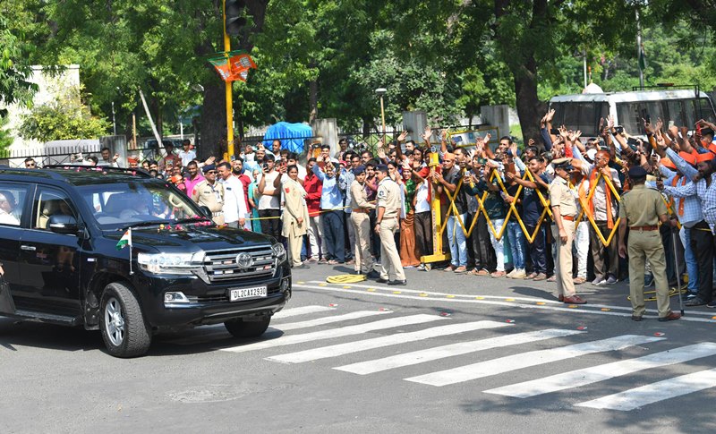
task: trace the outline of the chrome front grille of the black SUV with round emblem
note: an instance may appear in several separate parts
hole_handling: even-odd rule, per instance
[[[251,266],[240,267],[236,257],[241,253],[251,255]],[[206,271],[211,283],[231,282],[251,277],[271,277],[276,261],[271,246],[247,247],[227,251],[208,251],[204,259]]]

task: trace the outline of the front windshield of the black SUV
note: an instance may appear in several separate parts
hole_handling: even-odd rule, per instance
[[[204,219],[192,200],[166,183],[94,183],[77,190],[103,230]]]

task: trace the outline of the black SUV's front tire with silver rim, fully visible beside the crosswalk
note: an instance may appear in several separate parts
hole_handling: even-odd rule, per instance
[[[120,283],[105,287],[99,328],[107,351],[115,357],[136,357],[149,351],[151,333],[132,291]]]

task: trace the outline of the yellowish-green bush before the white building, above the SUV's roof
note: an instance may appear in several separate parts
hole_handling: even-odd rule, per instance
[[[67,139],[96,139],[107,133],[111,123],[92,116],[81,103],[80,89],[68,89],[50,104],[35,106],[23,116],[21,137],[42,142]]]

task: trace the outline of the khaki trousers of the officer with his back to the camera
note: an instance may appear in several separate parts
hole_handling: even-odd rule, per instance
[[[669,280],[666,277],[664,245],[659,231],[629,231],[626,245],[629,254],[629,295],[635,316],[644,315],[644,261],[652,264],[652,275],[656,285],[656,307],[659,316],[669,315]]]

